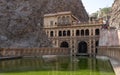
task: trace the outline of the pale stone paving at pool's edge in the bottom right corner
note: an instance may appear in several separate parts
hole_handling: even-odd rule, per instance
[[[110,61],[113,66],[115,74],[120,75],[120,62],[112,58],[110,58]]]

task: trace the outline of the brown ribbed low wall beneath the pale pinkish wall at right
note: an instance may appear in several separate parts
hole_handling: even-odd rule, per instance
[[[120,47],[99,47],[98,54],[109,56],[120,61]]]

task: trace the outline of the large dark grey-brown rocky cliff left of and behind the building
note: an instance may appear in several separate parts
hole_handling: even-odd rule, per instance
[[[88,20],[81,0],[0,0],[0,47],[49,47],[43,15],[59,11]]]

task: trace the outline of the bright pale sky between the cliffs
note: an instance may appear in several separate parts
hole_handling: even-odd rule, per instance
[[[91,14],[98,11],[100,8],[110,7],[114,0],[82,0],[86,11]]]

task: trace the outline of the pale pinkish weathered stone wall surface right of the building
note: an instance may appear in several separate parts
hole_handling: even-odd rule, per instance
[[[120,30],[106,30],[100,31],[99,46],[120,46]]]

